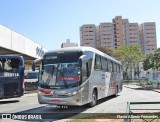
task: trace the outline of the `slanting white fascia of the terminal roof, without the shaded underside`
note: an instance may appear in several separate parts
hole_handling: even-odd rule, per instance
[[[27,37],[0,25],[0,47],[40,58],[47,50]]]

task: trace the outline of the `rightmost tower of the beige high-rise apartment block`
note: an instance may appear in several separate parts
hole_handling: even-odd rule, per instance
[[[149,54],[157,49],[156,24],[145,22],[140,25],[141,49],[144,54]]]

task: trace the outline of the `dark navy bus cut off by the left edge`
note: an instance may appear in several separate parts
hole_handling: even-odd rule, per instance
[[[0,55],[0,99],[24,94],[24,59],[22,56]]]

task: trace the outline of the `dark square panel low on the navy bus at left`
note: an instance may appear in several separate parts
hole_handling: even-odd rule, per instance
[[[4,84],[4,97],[17,96],[18,95],[18,83]]]

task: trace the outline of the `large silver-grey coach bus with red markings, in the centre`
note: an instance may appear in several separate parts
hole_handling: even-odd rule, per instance
[[[39,66],[40,104],[93,107],[122,91],[121,62],[92,47],[68,47],[45,53]]]

